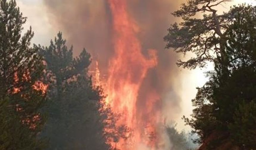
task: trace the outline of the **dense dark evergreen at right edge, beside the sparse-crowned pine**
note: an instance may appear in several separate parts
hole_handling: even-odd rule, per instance
[[[223,16],[227,14],[232,15],[223,24],[225,62],[218,54],[213,57],[210,80],[192,100],[196,107],[192,119],[184,119],[199,135],[196,142],[203,143],[201,149],[255,149],[256,7],[243,4]]]

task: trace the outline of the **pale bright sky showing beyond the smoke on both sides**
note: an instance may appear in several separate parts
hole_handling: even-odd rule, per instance
[[[28,29],[29,26],[32,26],[33,31],[35,32],[35,36],[32,40],[32,43],[41,44],[44,46],[49,45],[49,41],[51,38],[57,34],[58,29],[55,29],[52,26],[53,23],[50,22],[49,12],[47,12],[46,6],[44,6],[42,0],[16,0],[18,6],[23,12],[24,16],[28,17],[27,23],[25,25],[25,29]],[[54,1],[54,0],[52,0]],[[157,0],[158,1],[158,0]],[[170,0],[172,1],[172,0]],[[256,4],[255,1],[252,0],[234,0],[232,4],[237,3],[252,3]],[[229,6],[223,6],[223,10],[229,8]],[[166,29],[163,29],[166,30]],[[65,34],[65,33],[64,33]],[[65,35],[64,35],[65,36]],[[181,112],[177,112],[178,116],[175,118],[175,121],[178,123],[179,129],[185,129],[184,123],[181,120],[182,115],[189,116],[192,113],[191,99],[193,99],[196,95],[196,87],[201,87],[205,81],[207,80],[204,77],[203,72],[206,70],[212,69],[209,66],[207,69],[200,70],[196,69],[193,71],[182,70],[181,78],[174,81],[174,84],[181,85],[178,86],[180,89],[176,89],[178,92],[178,96],[181,98]]]

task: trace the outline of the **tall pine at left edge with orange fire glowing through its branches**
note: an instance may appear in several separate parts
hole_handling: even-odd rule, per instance
[[[31,27],[21,35],[26,17],[16,2],[1,0],[0,7],[0,149],[43,149],[44,65],[38,49],[29,47]]]

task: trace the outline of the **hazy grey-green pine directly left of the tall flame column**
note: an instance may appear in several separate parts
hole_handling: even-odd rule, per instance
[[[43,135],[49,137],[49,149],[109,149],[103,137],[101,112],[102,90],[93,87],[88,75],[90,54],[85,49],[73,58],[62,33],[41,47],[47,64],[49,121]]]

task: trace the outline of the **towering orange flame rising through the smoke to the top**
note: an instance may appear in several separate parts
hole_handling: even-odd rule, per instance
[[[154,149],[157,137],[156,124],[160,114],[153,112],[154,102],[159,100],[156,92],[148,95],[145,110],[138,110],[138,94],[147,71],[157,65],[155,50],[148,51],[148,58],[142,54],[141,43],[136,37],[139,31],[135,21],[127,12],[126,0],[108,0],[113,18],[113,46],[115,56],[110,60],[107,80],[106,104],[121,114],[118,124],[126,124],[132,129],[132,137],[128,141],[118,142],[118,149],[136,149],[142,143]],[[144,111],[143,113],[139,113]],[[141,115],[139,115],[141,114]],[[143,114],[151,114],[143,118]]]

